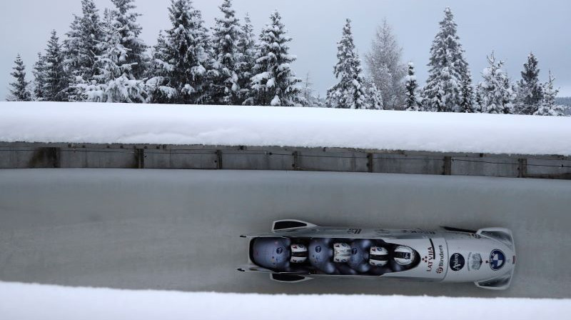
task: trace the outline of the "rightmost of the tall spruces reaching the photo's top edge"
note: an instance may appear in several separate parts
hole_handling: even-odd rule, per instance
[[[223,18],[217,18],[213,28],[212,46],[215,62],[211,72],[213,76],[210,95],[213,104],[238,104],[240,25],[231,0],[223,0],[223,4],[218,8],[222,11]]]

